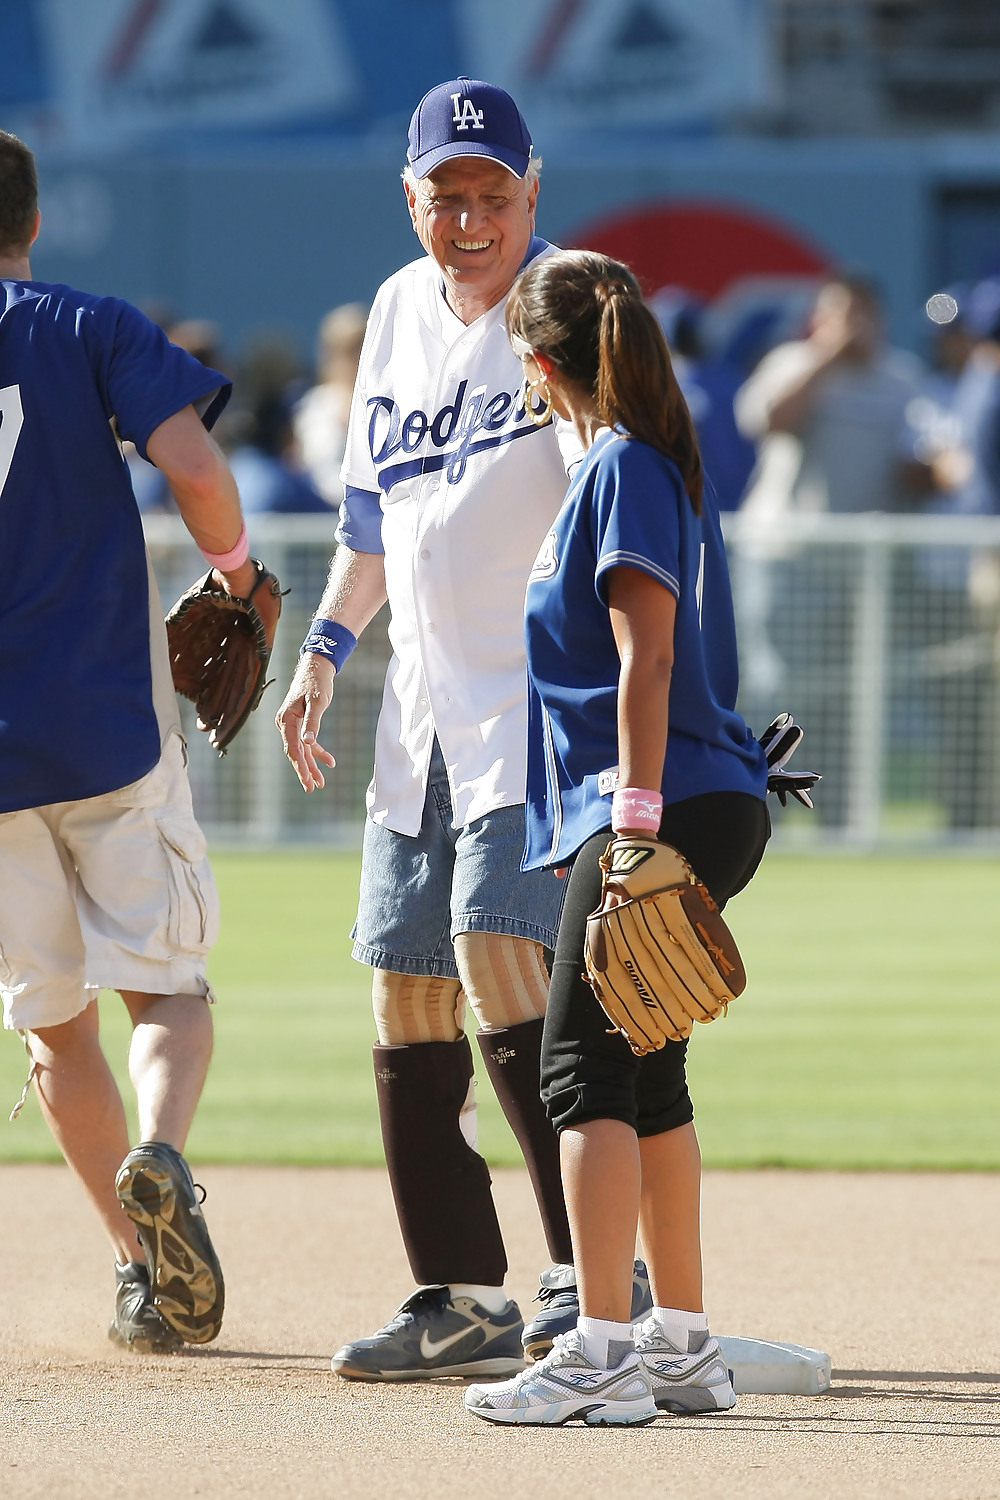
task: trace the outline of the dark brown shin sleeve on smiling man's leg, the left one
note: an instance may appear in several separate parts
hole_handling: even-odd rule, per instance
[[[468,1040],[372,1053],[385,1166],[417,1282],[502,1286],[507,1254],[489,1167],[459,1128],[472,1078]]]

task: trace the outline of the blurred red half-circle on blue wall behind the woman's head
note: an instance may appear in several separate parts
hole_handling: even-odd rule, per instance
[[[648,297],[687,286],[711,298],[744,276],[822,276],[831,264],[784,224],[709,202],[630,207],[573,230],[565,243],[625,261]]]

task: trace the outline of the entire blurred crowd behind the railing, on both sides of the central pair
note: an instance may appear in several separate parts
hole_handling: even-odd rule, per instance
[[[796,544],[783,520],[1000,514],[1000,278],[930,298],[915,340],[924,357],[891,346],[879,288],[853,273],[729,304],[667,286],[652,306],[720,508],[742,518],[732,567],[745,710],[766,723],[775,704],[795,706],[823,770],[820,818],[844,826],[859,753],[861,552]],[[231,364],[214,324],[147,310],[174,344],[232,375],[216,436],[244,512],[336,513],[366,308],[346,303],[321,320],[313,370],[280,338],[258,339]],[[135,452],[127,459],[139,508],[171,510],[157,470]],[[952,828],[993,826],[996,758],[982,747],[1000,728],[997,552],[898,549],[889,588],[892,650],[918,684],[912,722],[894,732],[922,753],[931,744]]]

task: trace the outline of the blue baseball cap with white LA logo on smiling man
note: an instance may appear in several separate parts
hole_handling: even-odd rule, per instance
[[[426,177],[453,156],[489,156],[523,177],[531,135],[511,96],[481,78],[453,78],[426,93],[409,122],[406,160]]]

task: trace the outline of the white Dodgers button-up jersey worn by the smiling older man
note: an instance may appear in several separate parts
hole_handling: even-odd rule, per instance
[[[552,254],[541,240],[537,254]],[[456,826],[525,800],[525,585],[582,456],[525,411],[504,303],[466,326],[430,256],[379,290],[345,484],[378,492],[394,657],[369,816],[417,834],[435,734]]]

